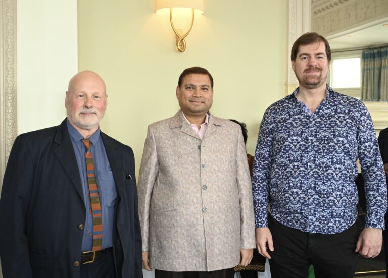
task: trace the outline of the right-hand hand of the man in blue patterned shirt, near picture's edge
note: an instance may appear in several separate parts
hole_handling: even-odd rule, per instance
[[[364,228],[356,245],[356,252],[364,258],[374,258],[380,254],[382,245],[382,230]]]

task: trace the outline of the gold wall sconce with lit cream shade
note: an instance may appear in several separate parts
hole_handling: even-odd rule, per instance
[[[176,49],[180,52],[183,52],[186,49],[186,42],[184,40],[187,37],[188,33],[190,33],[192,25],[194,23],[194,10],[199,10],[201,13],[204,12],[204,1],[203,0],[156,0],[156,10],[160,9],[170,9],[170,23],[172,30],[175,33],[175,43]],[[189,8],[191,9],[191,25],[188,31],[184,34],[179,34],[177,29],[172,22],[172,9],[173,8]]]

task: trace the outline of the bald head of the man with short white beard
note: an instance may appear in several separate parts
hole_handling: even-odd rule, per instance
[[[83,71],[70,79],[65,98],[67,117],[85,138],[98,129],[107,97],[105,82],[95,72]]]

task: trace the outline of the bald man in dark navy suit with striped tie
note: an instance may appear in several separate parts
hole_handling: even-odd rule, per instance
[[[76,74],[65,106],[61,125],[12,147],[0,199],[3,275],[142,277],[134,156],[100,131],[102,78]]]

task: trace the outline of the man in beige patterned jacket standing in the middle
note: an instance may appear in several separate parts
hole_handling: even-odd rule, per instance
[[[181,110],[148,127],[138,183],[143,268],[155,277],[233,277],[255,248],[253,199],[239,125],[209,113],[213,78],[186,69]],[[210,273],[209,273],[210,272]]]

